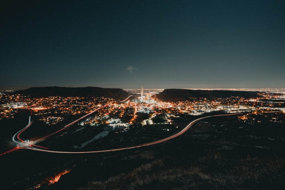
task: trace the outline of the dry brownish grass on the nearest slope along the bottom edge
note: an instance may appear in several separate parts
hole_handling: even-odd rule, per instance
[[[163,159],[154,160],[105,181],[89,182],[80,190],[278,189],[285,185],[284,166],[284,158],[247,156],[229,160],[220,153],[209,153],[190,165],[169,165]]]

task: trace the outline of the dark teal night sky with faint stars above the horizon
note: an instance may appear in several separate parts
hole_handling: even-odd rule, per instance
[[[285,88],[284,0],[0,7],[0,90]]]

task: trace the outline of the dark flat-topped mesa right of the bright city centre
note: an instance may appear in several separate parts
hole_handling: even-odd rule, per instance
[[[234,90],[188,90],[188,89],[165,89],[164,91],[153,95],[152,98],[160,101],[186,101],[196,98],[229,98],[229,97],[243,97],[254,98],[263,97],[258,95],[255,91],[234,91]]]

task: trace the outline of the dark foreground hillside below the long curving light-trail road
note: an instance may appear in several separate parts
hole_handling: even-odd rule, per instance
[[[183,117],[191,121],[219,114],[223,113]],[[249,117],[262,120],[262,115]],[[142,148],[97,154],[19,150],[0,157],[5,173],[2,189],[38,184],[42,184],[38,189],[74,190],[282,189],[284,134],[284,123],[249,124],[237,116],[221,116],[201,120],[182,136]],[[49,184],[48,179],[66,170],[70,172]]]

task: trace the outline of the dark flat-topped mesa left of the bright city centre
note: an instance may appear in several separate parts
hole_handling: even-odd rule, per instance
[[[60,96],[60,97],[108,97],[113,99],[126,99],[131,94],[119,88],[100,87],[32,87],[18,90],[13,94],[22,94],[33,98]]]

